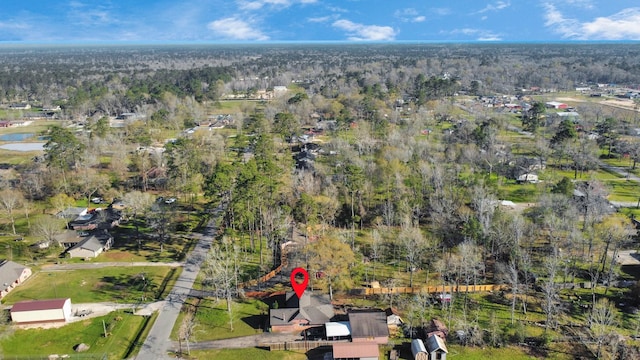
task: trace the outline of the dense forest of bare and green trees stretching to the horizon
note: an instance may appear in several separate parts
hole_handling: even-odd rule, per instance
[[[479,321],[466,294],[454,315],[419,297],[382,300],[400,302],[416,326],[425,314],[446,317],[469,334],[465,344],[557,336],[582,339],[596,357],[638,355],[616,336],[637,333],[640,320],[597,317],[616,303],[640,306],[638,279],[615,261],[635,246],[631,210],[609,202],[620,182],[602,171],[603,161],[635,171],[637,102],[601,106],[587,95],[571,104],[579,120],[545,107],[576,87],[637,89],[637,46],[4,46],[0,64],[0,102],[34,106],[6,119],[61,108],[42,132],[44,156],[3,164],[12,170],[0,194],[7,232],[20,232],[18,209],[28,214],[31,203],[62,210],[100,195],[139,204],[129,215],[147,217],[149,239],[164,243],[187,222],[154,213],[141,194],[173,194],[186,212],[225,207],[225,241],[259,257],[252,277],[279,265],[299,232],[309,244],[298,260],[331,292],[372,280],[505,284],[491,298],[509,314],[499,325]],[[289,90],[259,95],[281,86]],[[125,113],[135,117],[110,126]],[[202,125],[220,119],[220,131]],[[531,173],[544,181],[518,180]],[[327,262],[327,253],[341,257]],[[577,293],[578,283],[589,285]],[[525,320],[544,334],[525,336]]]

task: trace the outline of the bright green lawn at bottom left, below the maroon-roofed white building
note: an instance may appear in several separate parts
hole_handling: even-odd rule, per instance
[[[104,337],[104,326],[108,337]],[[108,359],[124,359],[145,318],[124,312],[87,319],[54,329],[16,330],[0,341],[3,356],[50,354],[74,355],[73,347],[80,343],[90,346],[86,354],[107,354]],[[36,358],[36,357],[34,357]]]

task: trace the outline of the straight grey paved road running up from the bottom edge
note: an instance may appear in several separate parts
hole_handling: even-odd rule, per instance
[[[202,265],[202,261],[211,247],[211,242],[217,230],[215,223],[221,212],[222,208],[217,208],[214,211],[213,218],[205,228],[196,247],[187,256],[185,268],[165,299],[166,301],[160,309],[160,314],[149,331],[149,335],[143,343],[136,360],[171,359],[173,357],[169,356],[168,353],[178,350],[170,340],[171,330],[196,280],[200,265]]]

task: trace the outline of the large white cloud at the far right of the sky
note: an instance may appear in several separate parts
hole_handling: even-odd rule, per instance
[[[640,40],[640,8],[624,9],[592,21],[566,18],[553,4],[544,4],[545,26],[565,39]]]

